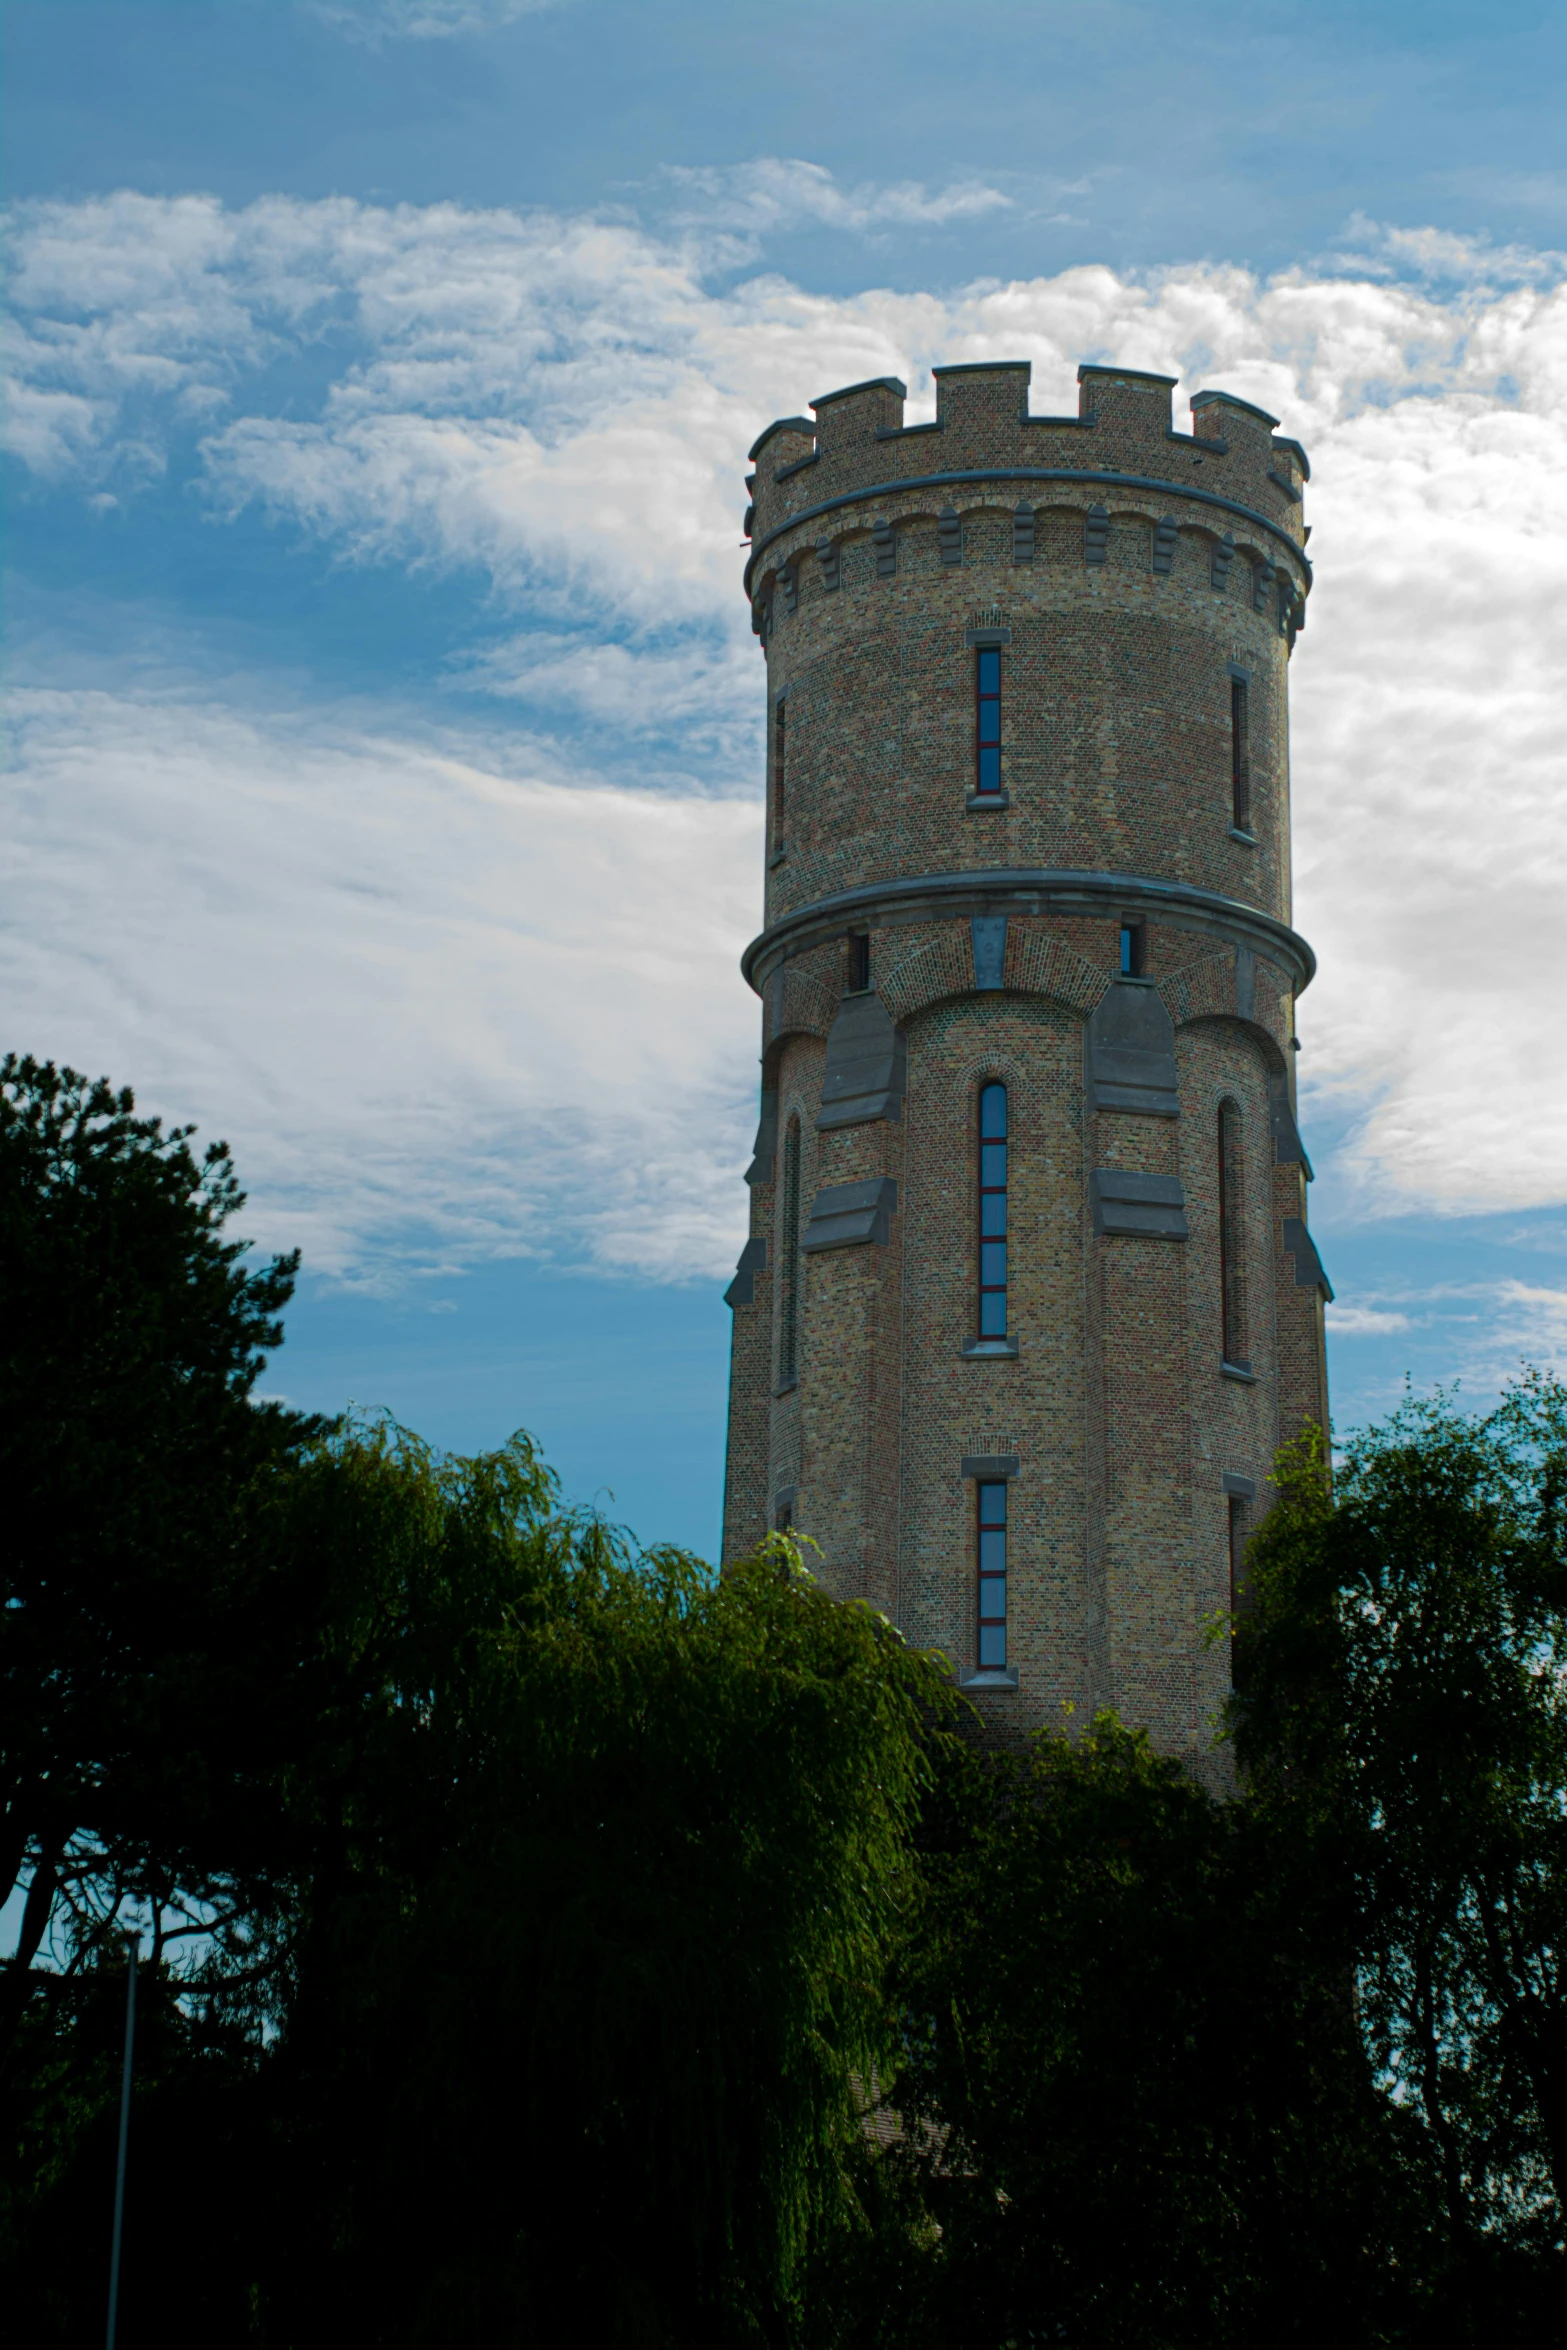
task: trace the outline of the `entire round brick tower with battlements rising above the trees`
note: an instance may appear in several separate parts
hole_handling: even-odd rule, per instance
[[[1294,1126],[1306,454],[1170,376],[944,367],[768,425],[752,1238],[724,1556],[792,1525],[996,1730],[1226,1687],[1273,1450],[1325,1419]]]

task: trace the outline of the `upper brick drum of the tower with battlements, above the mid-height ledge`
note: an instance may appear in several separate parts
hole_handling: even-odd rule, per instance
[[[919,874],[1092,870],[1290,919],[1287,660],[1306,454],[1172,376],[895,376],[756,439],[745,585],[768,656],[768,926]]]

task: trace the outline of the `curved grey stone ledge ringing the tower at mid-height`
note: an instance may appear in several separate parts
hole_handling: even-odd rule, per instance
[[[761,994],[782,964],[808,947],[841,938],[850,921],[893,926],[1008,912],[1121,921],[1128,909],[1175,931],[1205,931],[1226,947],[1255,947],[1266,961],[1278,964],[1297,994],[1316,973],[1316,954],[1299,931],[1264,914],[1262,907],[1243,905],[1240,898],[1222,898],[1219,891],[1191,881],[1149,881],[1142,874],[1078,872],[1060,865],[991,865],[977,872],[867,881],[780,916],[749,942],[740,971]],[[1107,971],[1104,982],[1109,980]]]

